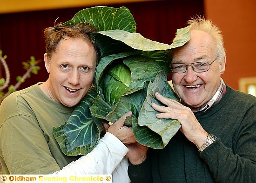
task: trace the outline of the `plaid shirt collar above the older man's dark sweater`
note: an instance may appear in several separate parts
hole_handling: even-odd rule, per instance
[[[220,99],[223,97],[223,95],[225,94],[226,90],[227,90],[226,85],[225,85],[223,79],[221,78],[221,84],[220,84],[218,90],[216,91],[216,93],[214,94],[214,96],[209,100],[209,102],[205,106],[200,107],[197,112],[205,112],[211,106],[217,104],[220,101]]]

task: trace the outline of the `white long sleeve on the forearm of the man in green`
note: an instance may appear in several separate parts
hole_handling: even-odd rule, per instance
[[[54,172],[57,175],[112,174],[128,152],[128,148],[113,134],[107,132],[87,155]],[[128,167],[128,164],[127,164]],[[120,169],[121,171],[124,169]],[[128,176],[128,172],[124,172]]]

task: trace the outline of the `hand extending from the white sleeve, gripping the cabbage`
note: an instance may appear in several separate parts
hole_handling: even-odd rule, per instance
[[[124,120],[127,116],[132,116],[132,112],[127,112],[112,125],[104,123],[104,127],[108,130],[108,132],[115,135],[115,137],[121,140],[123,144],[131,144],[137,142],[134,137],[132,128],[124,126]]]

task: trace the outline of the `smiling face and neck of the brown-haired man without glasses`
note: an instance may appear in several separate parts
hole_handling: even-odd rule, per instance
[[[42,91],[63,105],[78,104],[94,79],[94,47],[83,38],[61,39],[51,59],[45,53],[44,60],[49,78],[40,85]]]

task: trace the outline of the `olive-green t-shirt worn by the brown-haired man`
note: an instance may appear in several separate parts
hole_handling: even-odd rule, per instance
[[[40,84],[13,92],[0,106],[2,174],[49,174],[78,159],[63,154],[53,136],[74,108],[48,98]]]

